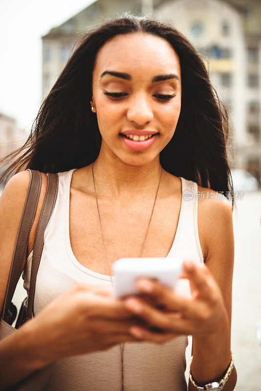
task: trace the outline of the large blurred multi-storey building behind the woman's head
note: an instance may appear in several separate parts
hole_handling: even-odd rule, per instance
[[[76,39],[106,17],[150,12],[173,22],[196,46],[234,124],[231,166],[261,177],[261,1],[97,0],[43,37],[43,98]]]

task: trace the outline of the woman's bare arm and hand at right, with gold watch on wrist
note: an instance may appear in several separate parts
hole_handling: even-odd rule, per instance
[[[164,331],[155,333],[131,327],[130,332],[136,338],[165,342],[177,335],[193,336],[191,371],[199,386],[220,380],[231,361],[232,210],[228,201],[207,201],[203,215],[208,244],[206,264],[184,262],[182,277],[189,279],[192,298],[178,296],[158,282],[143,280],[137,283],[137,287],[145,294],[144,300],[138,297],[125,299],[125,305],[131,312]],[[146,290],[144,282],[147,282],[149,290]],[[158,305],[164,310],[159,310]],[[233,369],[223,390],[234,390],[236,379],[236,369]],[[191,382],[189,390],[196,390]]]

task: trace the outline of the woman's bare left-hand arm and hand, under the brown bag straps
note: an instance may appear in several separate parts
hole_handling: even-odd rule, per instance
[[[45,174],[42,174],[42,189],[29,236],[29,248],[33,247],[47,188],[47,178],[44,177]],[[29,183],[29,171],[16,174],[8,181],[0,197],[1,311]],[[25,261],[26,256],[23,266]],[[0,391],[61,358],[135,340],[128,330],[132,324],[137,324],[136,318],[130,315],[122,302],[110,298],[110,290],[77,284],[48,304],[35,318],[2,339]]]

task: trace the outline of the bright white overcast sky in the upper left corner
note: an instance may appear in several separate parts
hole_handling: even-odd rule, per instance
[[[42,40],[94,0],[0,0],[0,113],[27,131],[42,93]]]

